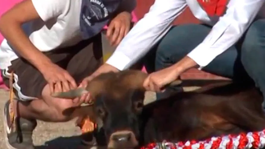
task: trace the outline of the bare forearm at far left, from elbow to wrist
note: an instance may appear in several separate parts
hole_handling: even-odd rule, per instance
[[[21,24],[2,17],[0,20],[0,32],[6,40],[12,45],[16,52],[34,65],[41,72],[46,65],[52,61],[39,51],[26,36],[21,28]]]

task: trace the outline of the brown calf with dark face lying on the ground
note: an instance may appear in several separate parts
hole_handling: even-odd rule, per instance
[[[55,93],[74,98],[89,91],[96,99],[90,116],[105,134],[108,148],[135,148],[149,142],[202,140],[265,128],[262,96],[254,87],[228,84],[183,92],[143,106],[143,81],[135,70],[105,73],[86,89]]]

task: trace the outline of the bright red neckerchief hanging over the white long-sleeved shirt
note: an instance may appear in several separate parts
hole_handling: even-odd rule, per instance
[[[228,0],[197,0],[209,16],[222,16]]]

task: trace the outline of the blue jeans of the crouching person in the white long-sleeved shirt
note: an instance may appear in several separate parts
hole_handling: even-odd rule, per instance
[[[185,57],[201,43],[211,27],[202,24],[174,26],[150,51],[155,71],[166,68]],[[147,56],[147,70],[152,71]],[[151,64],[151,65],[150,65]],[[224,53],[217,56],[204,71],[255,85],[265,94],[265,19],[254,21],[244,36]],[[159,97],[158,97],[159,98]],[[265,107],[265,105],[263,105]]]

